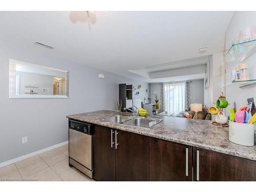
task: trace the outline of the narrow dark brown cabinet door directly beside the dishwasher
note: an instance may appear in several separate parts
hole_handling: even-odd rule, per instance
[[[94,176],[97,181],[115,181],[115,130],[95,125],[93,135]],[[112,146],[113,145],[113,146]]]

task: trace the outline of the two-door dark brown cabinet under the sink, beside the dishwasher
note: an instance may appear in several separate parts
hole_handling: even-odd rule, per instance
[[[149,138],[95,125],[94,179],[148,181]]]

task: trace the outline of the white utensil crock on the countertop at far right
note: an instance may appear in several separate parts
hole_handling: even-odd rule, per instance
[[[254,124],[229,121],[229,141],[244,146],[254,146]]]

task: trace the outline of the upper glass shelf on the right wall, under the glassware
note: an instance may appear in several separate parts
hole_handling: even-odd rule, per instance
[[[256,52],[256,39],[232,45],[225,54],[227,62],[243,62]]]

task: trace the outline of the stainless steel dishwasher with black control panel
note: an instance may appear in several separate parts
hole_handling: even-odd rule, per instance
[[[69,119],[69,166],[93,177],[93,125]]]

